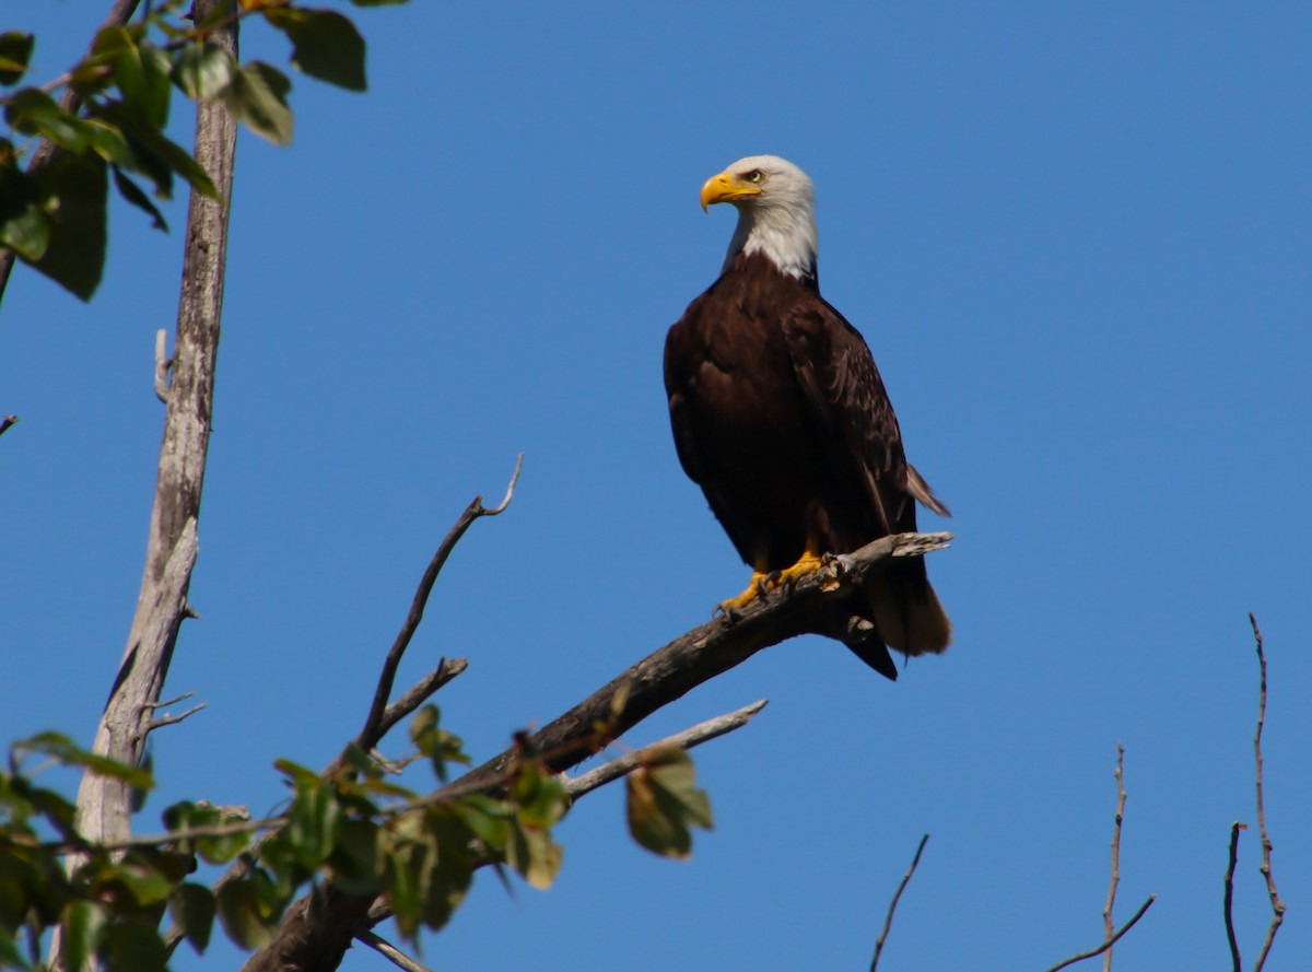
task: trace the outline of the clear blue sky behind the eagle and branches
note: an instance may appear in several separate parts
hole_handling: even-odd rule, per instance
[[[54,77],[108,4],[24,0]],[[404,677],[479,757],[705,620],[747,571],[678,468],[666,327],[732,228],[702,181],[773,152],[816,181],[824,293],[866,334],[912,460],[955,512],[930,573],[956,626],[886,682],[792,641],[635,732],[758,698],[697,752],[693,861],[627,840],[619,790],[565,867],[491,875],[428,941],[440,969],[853,969],[933,834],[882,968],[1043,969],[1096,944],[1118,740],[1120,972],[1221,968],[1232,821],[1267,815],[1312,954],[1312,8],[1305,3],[461,5],[354,13],[370,92],[295,77],[295,144],[243,135],[210,476],[155,742],[182,796],[262,813],[270,763],[363,718],[433,548],[475,495]],[[245,52],[285,63],[281,38]],[[185,105],[174,119],[186,134]],[[16,273],[0,315],[7,658],[0,737],[89,740],[136,597],[163,411],[169,236],[113,213],[91,306]],[[400,742],[392,749],[399,752]],[[1269,909],[1254,830],[1236,917]],[[182,969],[227,968],[222,948]],[[388,965],[356,952],[348,969]]]

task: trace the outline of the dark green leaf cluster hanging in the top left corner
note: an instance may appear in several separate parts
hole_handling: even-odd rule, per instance
[[[404,3],[353,0],[357,7],[383,1]],[[291,80],[265,62],[240,64],[215,42],[219,28],[258,14],[290,41],[291,64],[302,73],[365,91],[365,41],[336,10],[243,0],[234,13],[193,24],[189,7],[171,0],[135,24],[102,28],[87,55],[43,87],[20,87],[37,38],[0,33],[0,106],[8,126],[0,131],[0,249],[83,300],[104,270],[110,184],[159,230],[168,224],[157,203],[172,198],[174,180],[218,195],[192,153],[165,134],[174,89],[197,102],[222,101],[274,144],[291,142]],[[49,148],[38,152],[41,146]]]

